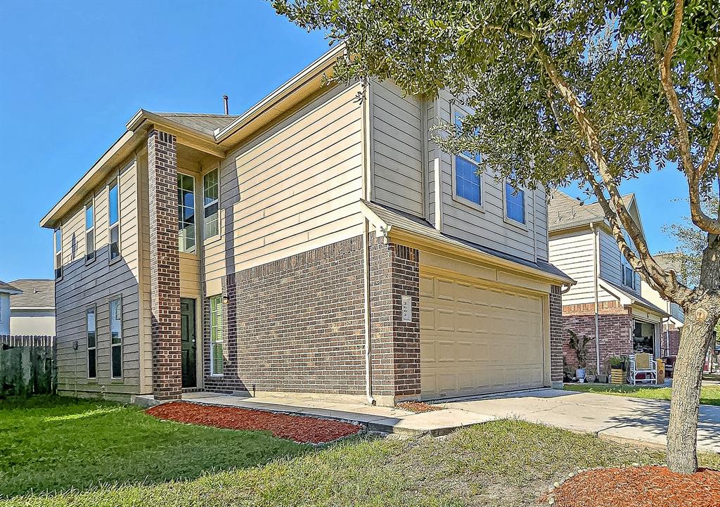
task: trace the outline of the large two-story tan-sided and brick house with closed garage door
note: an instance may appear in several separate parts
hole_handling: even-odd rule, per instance
[[[42,219],[60,392],[392,404],[562,382],[573,281],[544,192],[428,142],[464,114],[447,94],[321,86],[341,54],[241,116],[141,109]]]

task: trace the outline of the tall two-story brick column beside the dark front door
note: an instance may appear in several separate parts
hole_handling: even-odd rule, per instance
[[[148,181],[153,395],[158,400],[175,400],[182,394],[182,351],[174,135],[158,130],[149,133]]]

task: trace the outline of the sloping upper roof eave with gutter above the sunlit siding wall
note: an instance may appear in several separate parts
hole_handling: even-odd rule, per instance
[[[344,44],[338,44],[335,48],[330,48],[324,55],[310,63],[310,65],[292,76],[292,78],[289,78],[288,81],[285,81],[284,84],[257,102],[234,122],[230,123],[230,125],[215,130],[215,140],[217,143],[222,143],[222,141],[227,140],[231,135],[237,133],[243,126],[251,122],[251,120],[256,119],[262,113],[274,107],[275,104],[279,104],[279,102],[291,96],[294,91],[297,91],[302,85],[307,84],[307,81],[327,71],[344,51]]]

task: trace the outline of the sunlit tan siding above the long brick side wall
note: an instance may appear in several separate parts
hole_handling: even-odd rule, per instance
[[[204,246],[206,282],[359,233],[358,91],[325,90],[222,162],[222,234]]]

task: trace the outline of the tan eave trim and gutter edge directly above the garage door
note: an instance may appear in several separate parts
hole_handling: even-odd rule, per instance
[[[378,235],[395,236],[396,238],[400,236],[400,238],[404,237],[405,239],[411,240],[421,239],[422,241],[426,241],[429,243],[436,243],[438,246],[443,248],[444,251],[455,251],[455,253],[458,253],[459,255],[464,257],[476,257],[479,260],[485,261],[487,264],[510,268],[513,269],[513,271],[515,272],[531,274],[536,278],[549,280],[551,282],[560,282],[563,285],[575,285],[577,283],[571,278],[559,277],[557,275],[544,272],[541,269],[525,266],[523,264],[513,262],[508,259],[502,259],[501,257],[492,255],[492,253],[480,251],[477,248],[456,245],[455,243],[451,243],[450,241],[441,241],[425,234],[416,233],[411,230],[404,229],[398,225],[389,225],[385,223],[384,220],[382,220],[382,218],[380,218],[376,212],[371,210],[370,207],[366,205],[363,201],[360,201],[360,211],[367,218],[367,220],[372,223],[372,225],[377,229]]]

